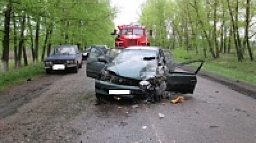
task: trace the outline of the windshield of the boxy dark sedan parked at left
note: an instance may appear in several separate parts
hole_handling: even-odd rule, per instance
[[[74,55],[75,47],[54,47],[51,55]]]

